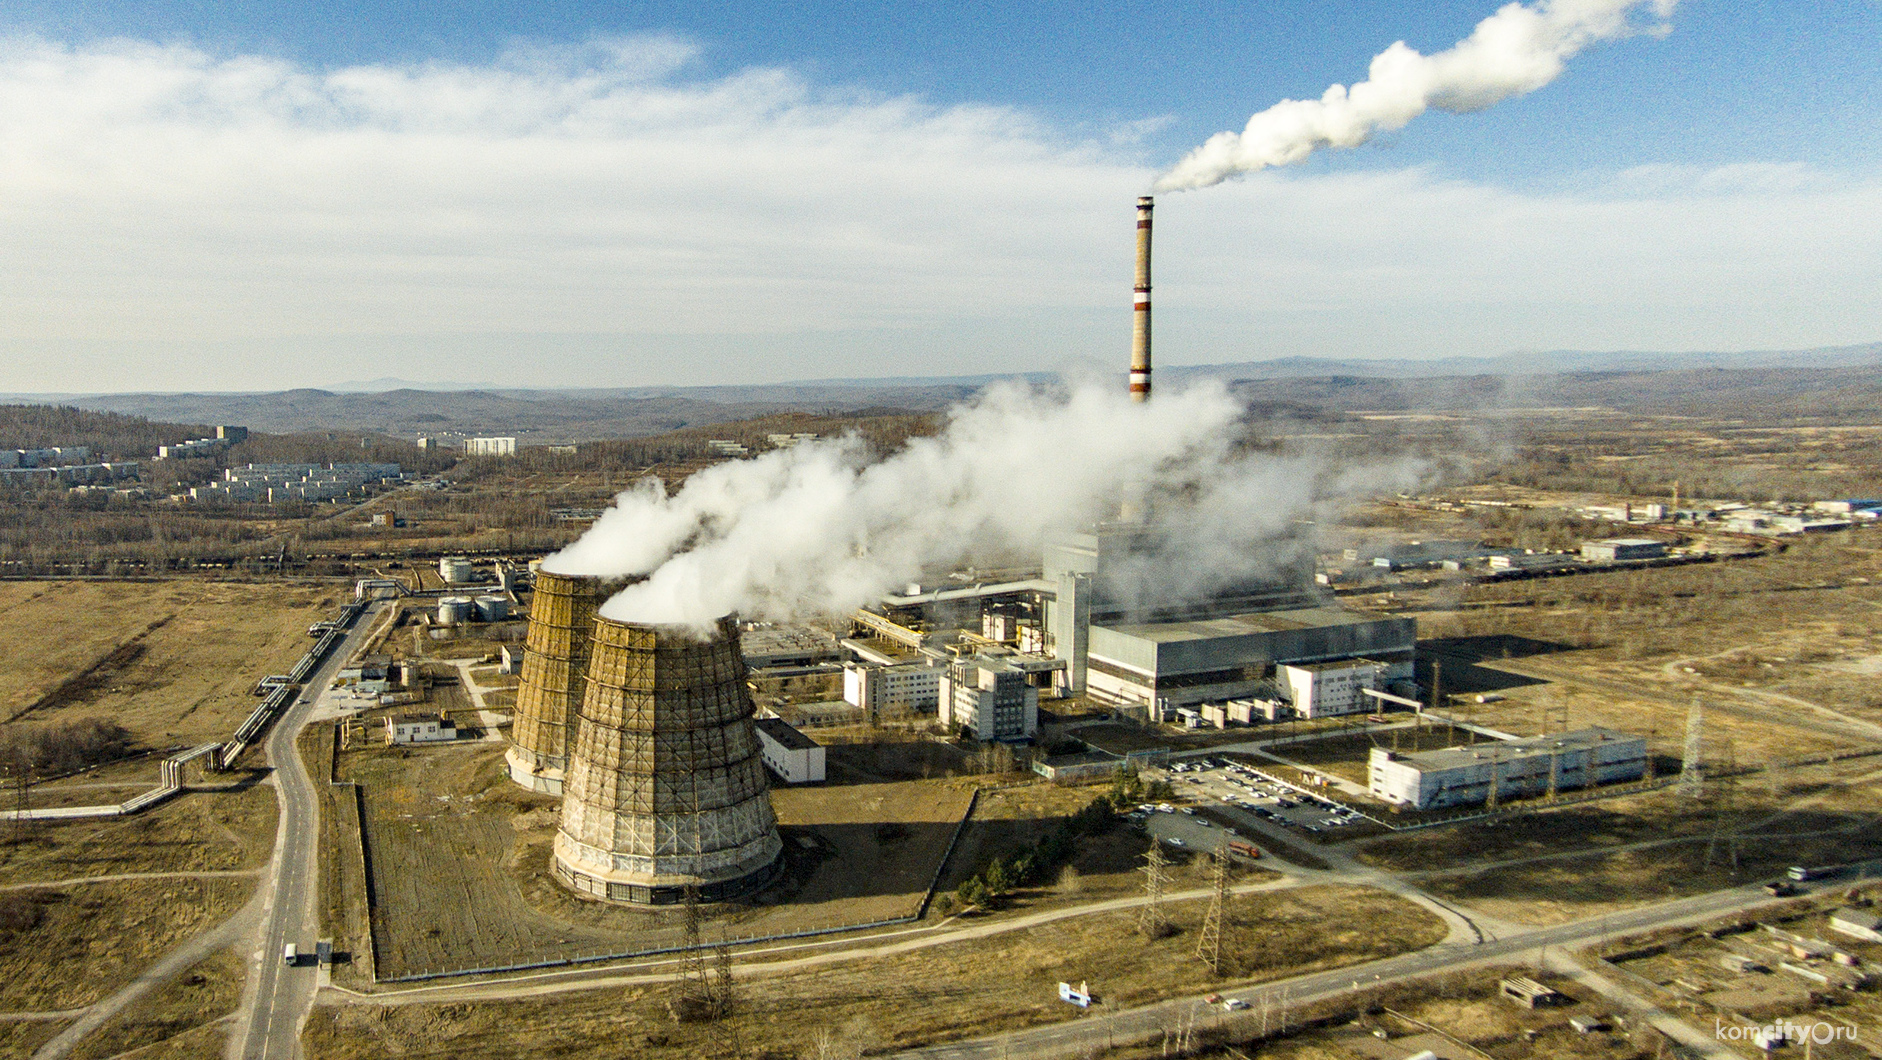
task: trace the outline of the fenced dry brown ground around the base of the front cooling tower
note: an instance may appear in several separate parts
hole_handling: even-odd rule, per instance
[[[678,909],[576,898],[551,875],[559,800],[519,791],[502,746],[341,755],[365,789],[380,975],[636,953],[679,941]],[[971,783],[779,787],[787,879],[710,909],[708,938],[913,915]]]

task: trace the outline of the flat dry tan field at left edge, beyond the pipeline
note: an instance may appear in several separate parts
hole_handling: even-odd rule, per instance
[[[0,719],[109,717],[145,746],[222,738],[341,597],[311,582],[0,582]]]

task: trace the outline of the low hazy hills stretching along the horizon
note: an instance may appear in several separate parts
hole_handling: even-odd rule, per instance
[[[1118,377],[1124,369],[1120,365]],[[279,393],[13,395],[147,420],[256,431],[393,437],[516,435],[521,444],[636,439],[775,414],[933,412],[1011,377],[826,378],[762,386],[608,390],[286,390]],[[1882,343],[1737,354],[1551,352],[1496,358],[1161,365],[1157,378],[1221,378],[1261,409],[1300,418],[1351,410],[1607,407],[1863,416],[1882,410]],[[390,382],[390,380],[380,380]],[[369,384],[354,384],[369,386]],[[0,399],[8,399],[0,395]],[[81,442],[83,444],[83,442]]]

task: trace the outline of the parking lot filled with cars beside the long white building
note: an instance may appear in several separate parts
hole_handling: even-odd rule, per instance
[[[1221,759],[1176,763],[1169,779],[1178,798],[1214,804],[1231,821],[1246,821],[1248,828],[1235,828],[1244,836],[1255,834],[1257,823],[1321,836],[1363,819],[1329,798],[1263,779],[1252,768]],[[1139,808],[1133,817],[1172,847],[1216,849],[1223,842],[1223,828],[1182,806]]]

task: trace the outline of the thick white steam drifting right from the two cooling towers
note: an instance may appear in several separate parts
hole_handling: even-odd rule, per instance
[[[1146,582],[1189,597],[1287,563],[1282,542],[1319,506],[1417,474],[1406,461],[1355,478],[1255,452],[1242,416],[1220,384],[1146,405],[1095,384],[999,386],[886,459],[828,439],[715,465],[672,495],[629,490],[544,567],[646,574],[602,606],[623,621],[830,616],[935,567],[1037,550],[1046,531],[1131,501],[1165,527],[1171,569]]]

